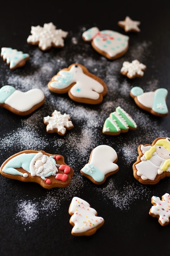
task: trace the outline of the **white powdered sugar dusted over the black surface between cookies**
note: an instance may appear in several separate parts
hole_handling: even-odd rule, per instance
[[[85,28],[82,29],[82,31]],[[30,50],[30,64],[32,69],[28,73],[9,73],[6,74],[8,84],[15,86],[16,89],[27,91],[32,88],[40,88],[45,96],[44,105],[35,111],[32,115],[18,120],[18,128],[11,130],[2,135],[0,145],[1,150],[10,152],[10,148],[15,149],[15,153],[22,150],[45,150],[50,148],[51,154],[61,154],[66,156],[66,163],[73,167],[75,173],[71,180],[71,184],[64,188],[58,189],[57,193],[51,189],[46,191],[41,198],[31,200],[20,200],[18,203],[18,211],[16,221],[18,219],[24,225],[29,225],[38,220],[40,213],[46,216],[49,214],[55,215],[60,209],[64,200],[70,201],[72,197],[80,193],[84,187],[80,169],[88,162],[91,150],[99,144],[107,143],[116,150],[118,155],[121,155],[125,170],[130,168],[132,162],[137,157],[137,146],[139,144],[150,144],[157,137],[165,137],[167,131],[161,130],[161,123],[157,119],[152,120],[150,125],[150,117],[144,111],[141,111],[135,104],[129,104],[129,92],[131,82],[124,76],[122,78],[120,69],[124,61],[132,61],[138,59],[145,64],[146,56],[150,52],[150,42],[141,42],[133,45],[126,56],[117,59],[116,61],[108,61],[103,56],[99,59],[93,58],[88,54],[91,45],[82,43],[80,34],[72,38],[72,46],[77,47],[76,52],[71,54],[71,49],[65,47],[56,56],[51,57],[50,52],[42,52],[35,48]],[[82,47],[84,53],[81,53]],[[88,106],[88,104],[75,103],[68,98],[68,95],[52,94],[47,84],[51,78],[57,74],[59,70],[68,67],[72,63],[80,63],[84,65],[89,72],[99,76],[104,80],[108,87],[108,93],[104,96],[102,104],[98,106]],[[159,81],[152,80],[147,82],[147,90],[157,88]],[[132,101],[130,101],[132,103]],[[119,137],[104,136],[102,128],[105,119],[109,114],[115,111],[117,106],[124,108],[137,123],[137,130],[128,131],[128,135],[121,134]],[[69,114],[74,128],[66,132],[64,137],[56,134],[47,134],[46,125],[43,118],[52,114],[54,110],[61,111],[62,114]],[[136,133],[137,136],[133,136]],[[127,137],[128,136],[128,137]],[[127,139],[128,138],[128,139]],[[46,150],[45,150],[46,151]],[[124,172],[124,170],[119,170]],[[126,175],[127,172],[125,171]],[[130,173],[131,175],[132,173]],[[123,175],[123,174],[122,174]],[[91,186],[89,181],[89,186]],[[107,186],[100,188],[93,186],[93,193],[100,193],[102,197],[109,202],[112,202],[115,207],[120,210],[129,209],[132,202],[140,197],[145,198],[150,192],[148,188],[142,184],[122,182],[121,185],[116,183],[116,180],[109,179]]]

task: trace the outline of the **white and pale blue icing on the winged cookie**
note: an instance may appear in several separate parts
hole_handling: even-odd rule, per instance
[[[61,86],[61,79],[63,81],[69,79],[69,82],[65,84],[63,82]],[[61,70],[59,72],[59,76],[56,75],[54,77],[54,80],[60,81],[60,84],[58,83],[57,85],[57,82],[55,84],[55,88],[57,89],[64,89],[71,85],[71,83],[75,83],[75,85],[73,85],[70,90],[71,94],[74,97],[97,100],[99,99],[99,94],[104,91],[103,85],[92,77],[84,74],[82,67],[79,65],[73,65],[69,71],[63,72]],[[51,83],[51,86],[53,87],[53,83]]]

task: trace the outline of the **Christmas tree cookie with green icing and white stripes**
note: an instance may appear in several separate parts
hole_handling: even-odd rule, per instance
[[[115,112],[110,113],[109,117],[104,122],[102,132],[107,135],[119,135],[121,132],[128,130],[136,130],[137,124],[132,117],[120,106]]]

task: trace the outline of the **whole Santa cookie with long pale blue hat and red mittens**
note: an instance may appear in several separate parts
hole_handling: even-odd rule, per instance
[[[65,164],[62,155],[24,150],[9,157],[0,167],[0,173],[13,180],[36,182],[45,189],[52,189],[68,186],[74,171]]]

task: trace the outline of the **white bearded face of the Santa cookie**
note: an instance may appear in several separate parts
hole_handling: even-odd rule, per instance
[[[42,155],[42,157],[36,160],[34,167],[36,176],[39,177],[46,176],[50,172],[56,173],[58,171],[53,160],[47,155]]]

